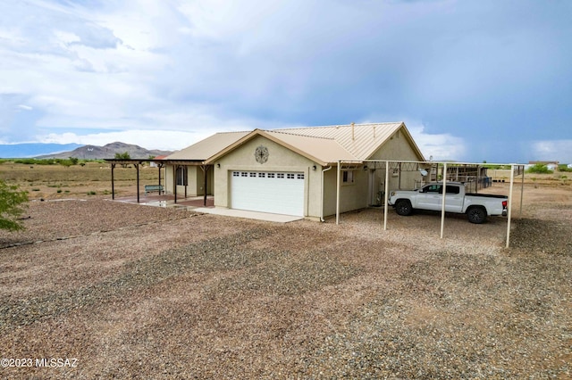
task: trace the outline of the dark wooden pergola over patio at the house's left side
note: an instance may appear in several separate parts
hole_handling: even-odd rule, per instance
[[[116,165],[133,165],[135,169],[137,169],[137,202],[139,203],[139,166],[143,164],[143,162],[155,162],[157,168],[159,169],[159,183],[161,185],[161,169],[163,169],[166,165],[173,165],[174,172],[176,173],[178,168],[183,166],[199,166],[203,172],[205,173],[205,197],[203,204],[206,206],[206,188],[207,188],[207,173],[208,169],[213,165],[207,165],[205,161],[198,161],[198,160],[149,160],[149,159],[105,159],[106,162],[109,162],[111,165],[111,193],[112,199],[115,199],[115,178],[114,178],[114,169]],[[173,176],[173,194],[175,196],[174,202],[177,202],[177,186],[176,186],[176,176]],[[166,178],[165,178],[166,179]],[[166,187],[166,186],[165,186]],[[187,186],[185,186],[185,198],[187,197]]]

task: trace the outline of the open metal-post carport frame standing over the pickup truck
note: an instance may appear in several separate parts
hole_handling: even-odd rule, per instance
[[[391,190],[389,188],[390,183],[390,172],[391,175],[397,176],[400,179],[401,172],[418,172],[421,178],[420,183],[431,182],[434,178],[436,181],[442,182],[442,186],[447,186],[448,177],[450,177],[451,167],[479,167],[485,166],[483,163],[474,162],[447,162],[447,161],[384,161],[384,160],[365,160],[360,163],[356,161],[338,161],[337,166],[337,189],[336,189],[336,224],[340,224],[340,194],[341,194],[341,171],[349,167],[355,167],[357,164],[363,165],[364,169],[383,169],[385,171],[385,181],[383,189],[383,230],[387,230],[387,215],[389,210],[389,193]],[[506,164],[506,163],[487,163],[488,165],[500,165],[500,166],[510,166],[510,183],[509,183],[509,211],[507,218],[507,240],[505,247],[509,248],[510,244],[510,223],[512,219],[512,199],[513,199],[513,187],[515,182],[515,177],[522,176],[521,186],[520,186],[520,214],[522,214],[522,201],[524,194],[524,183],[525,183],[525,166],[522,164]],[[434,172],[433,172],[434,170]],[[439,178],[439,172],[443,173],[442,178]],[[477,170],[478,172],[478,170]],[[433,177],[434,175],[434,177]],[[424,178],[428,178],[424,180]],[[440,180],[441,179],[441,180]],[[450,180],[450,179],[449,179]],[[476,178],[478,183],[478,178]],[[400,181],[399,181],[400,187]],[[446,192],[443,192],[442,197],[442,211],[441,211],[441,232],[440,237],[443,238],[444,225],[445,225],[445,200]]]

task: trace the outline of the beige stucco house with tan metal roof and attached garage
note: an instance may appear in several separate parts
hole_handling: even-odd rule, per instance
[[[338,204],[345,212],[379,200],[385,166],[368,160],[425,158],[403,122],[217,133],[164,159],[165,188],[213,194],[215,207],[322,219]],[[390,170],[390,188],[421,178],[418,167]]]

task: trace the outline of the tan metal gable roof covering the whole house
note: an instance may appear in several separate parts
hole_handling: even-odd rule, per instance
[[[367,160],[398,130],[402,130],[408,138],[419,160],[425,161],[403,122],[217,133],[195,145],[172,153],[167,160],[195,160],[213,163],[248,140],[256,136],[264,136],[325,166],[335,164],[338,160]]]

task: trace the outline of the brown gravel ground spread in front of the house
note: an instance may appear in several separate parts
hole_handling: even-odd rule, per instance
[[[503,218],[450,216],[439,239],[423,212],[383,231],[378,209],[283,225],[33,202],[0,232],[0,356],[32,366],[0,377],[570,378],[572,191],[538,189],[557,190],[508,250]]]

